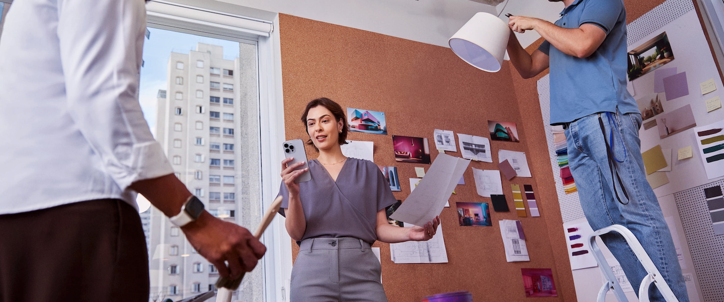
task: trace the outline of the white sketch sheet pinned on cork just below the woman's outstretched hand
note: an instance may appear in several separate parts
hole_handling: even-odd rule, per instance
[[[405,223],[405,227],[410,227]],[[390,257],[392,262],[403,263],[447,263],[447,250],[445,239],[442,237],[442,225],[437,226],[437,232],[427,241],[405,241],[403,243],[390,243]]]

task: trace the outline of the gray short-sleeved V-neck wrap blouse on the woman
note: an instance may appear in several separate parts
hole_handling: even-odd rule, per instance
[[[299,183],[307,222],[302,240],[354,237],[374,243],[377,211],[397,202],[379,167],[368,160],[349,158],[335,183],[316,159],[308,164],[312,180]],[[289,191],[284,183],[279,195],[284,197],[279,210],[284,216],[284,210],[289,208]]]

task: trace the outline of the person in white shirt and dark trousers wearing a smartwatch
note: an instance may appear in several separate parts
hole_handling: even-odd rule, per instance
[[[143,0],[13,1],[0,40],[0,301],[148,301],[136,192],[224,277],[264,255],[203,211],[153,139],[138,103],[145,31]]]

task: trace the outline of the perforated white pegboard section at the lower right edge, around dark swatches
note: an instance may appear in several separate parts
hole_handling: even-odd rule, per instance
[[[707,302],[724,301],[724,235],[714,235],[707,198],[704,197],[704,189],[716,185],[724,188],[724,180],[674,193],[696,277]]]

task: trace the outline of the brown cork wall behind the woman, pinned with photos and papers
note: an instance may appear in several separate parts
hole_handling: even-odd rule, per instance
[[[447,48],[287,14],[279,15],[279,27],[287,140],[308,137],[300,114],[313,98],[325,96],[342,107],[385,112],[388,135],[350,133],[348,139],[374,141],[374,162],[397,167],[402,186],[395,192],[397,199],[408,196],[407,179],[416,177],[414,167],[429,165],[395,162],[392,135],[432,138],[438,128],[489,137],[488,119],[518,124],[521,143],[491,141],[494,163],[471,162],[471,167],[498,169],[499,149],[529,154],[534,177],[503,179],[502,185],[510,209],[514,208],[510,184],[533,185],[541,217],[519,218],[515,211],[500,213],[491,207],[492,227],[460,227],[455,202],[490,203],[477,195],[468,169],[466,185],[458,185],[450,197],[451,207],[440,215],[449,263],[394,264],[389,246],[375,243],[382,251],[382,280],[390,301],[421,301],[427,295],[456,290],[473,293],[476,301],[522,300],[521,268],[552,269],[558,297],[542,299],[576,301],[537,98],[526,99],[525,104],[535,102],[526,107],[516,91],[518,85],[531,85],[535,92],[534,80],[516,83],[512,79],[518,75],[511,77],[508,64],[497,73],[482,72]],[[537,122],[527,120],[535,119],[531,112],[538,112]],[[306,151],[310,159],[316,157],[311,148]],[[433,160],[437,154],[431,146]],[[500,219],[521,220],[531,261],[505,261]]]

